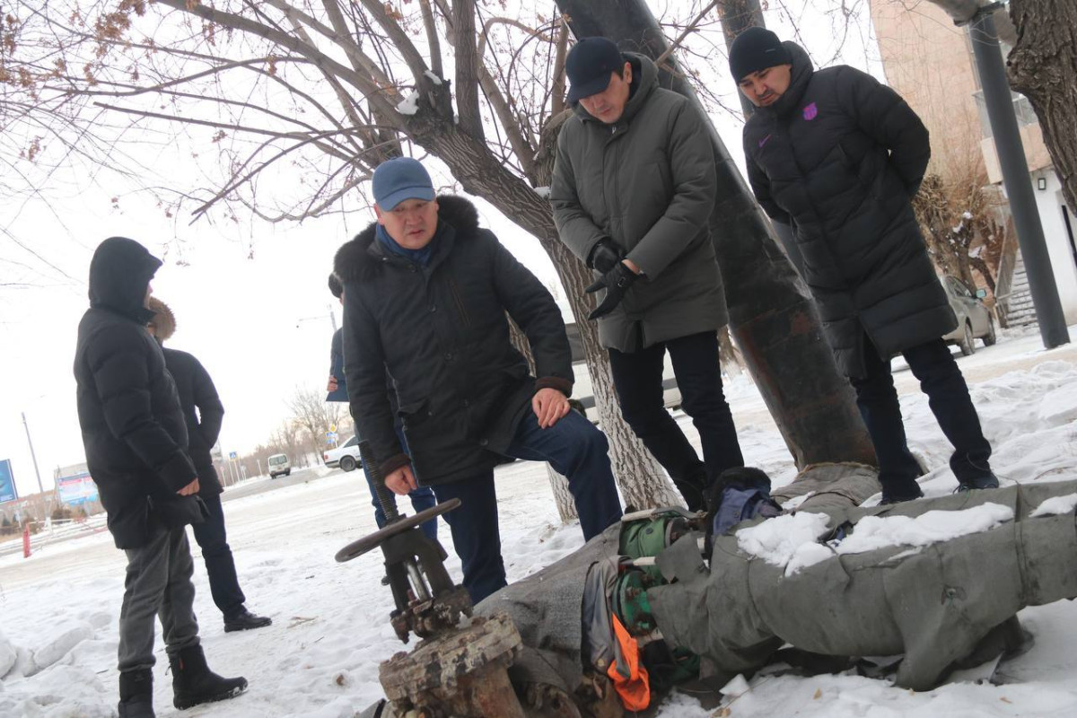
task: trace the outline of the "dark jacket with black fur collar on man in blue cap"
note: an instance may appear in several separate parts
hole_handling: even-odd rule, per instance
[[[572,354],[554,298],[460,197],[438,197],[438,235],[425,267],[392,253],[370,225],[337,252],[345,285],[344,356],[351,416],[383,471],[408,463],[393,431],[386,368],[395,383],[423,484],[502,461],[537,389],[572,391]],[[505,312],[527,334],[535,380],[513,348]]]

